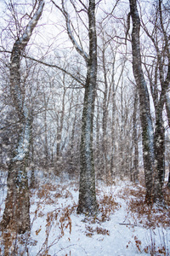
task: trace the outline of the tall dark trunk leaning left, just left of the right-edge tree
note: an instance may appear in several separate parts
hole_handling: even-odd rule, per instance
[[[144,177],[146,185],[146,201],[153,201],[153,171],[155,161],[154,131],[150,117],[150,98],[142,70],[139,30],[140,20],[136,0],[129,0],[130,14],[133,20],[132,49],[133,49],[133,74],[139,90],[140,121],[142,126],[142,143],[144,159]]]

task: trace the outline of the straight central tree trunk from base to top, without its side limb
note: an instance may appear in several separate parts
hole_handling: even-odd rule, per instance
[[[82,111],[81,172],[77,213],[95,215],[98,204],[95,195],[93,158],[94,101],[97,74],[97,38],[95,30],[95,0],[89,0],[89,57],[85,96]]]

